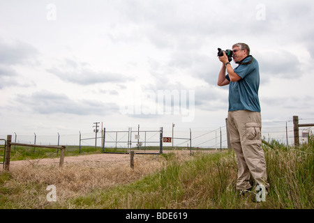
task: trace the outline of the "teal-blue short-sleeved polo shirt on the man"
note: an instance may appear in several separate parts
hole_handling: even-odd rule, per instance
[[[251,61],[252,56],[247,56],[242,62]],[[239,65],[234,68],[234,72],[241,77],[237,82],[230,82],[229,75],[225,78],[229,85],[229,112],[237,110],[249,110],[260,112],[260,100],[258,99],[258,89],[260,86],[260,69],[258,62],[254,58],[252,63]]]

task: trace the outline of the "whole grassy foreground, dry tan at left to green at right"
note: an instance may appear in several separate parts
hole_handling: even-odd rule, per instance
[[[135,155],[119,162],[82,161],[57,165],[33,163],[0,174],[0,208],[309,208],[313,209],[314,144],[264,148],[267,199],[255,203],[235,190],[234,152],[200,155]],[[188,162],[186,162],[188,160]],[[57,202],[46,199],[57,187]]]

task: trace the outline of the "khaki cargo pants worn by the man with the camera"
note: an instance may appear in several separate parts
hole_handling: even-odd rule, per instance
[[[260,112],[248,110],[228,112],[227,128],[230,143],[238,161],[237,190],[252,187],[249,183],[251,175],[258,185],[268,188],[266,161],[262,149]]]

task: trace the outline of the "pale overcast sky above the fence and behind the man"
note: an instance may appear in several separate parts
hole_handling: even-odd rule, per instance
[[[0,1],[0,135],[92,132],[94,122],[108,130],[223,126],[228,86],[216,84],[217,48],[239,42],[260,64],[262,121],[314,118],[313,6]]]

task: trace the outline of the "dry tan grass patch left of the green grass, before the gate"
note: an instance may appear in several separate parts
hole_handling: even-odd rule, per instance
[[[182,162],[190,159],[188,154],[177,153],[177,157]],[[0,208],[73,208],[68,203],[70,199],[133,182],[159,171],[165,162],[163,155],[135,155],[134,169],[130,168],[130,160],[116,163],[85,160],[67,163],[62,168],[36,162],[18,165],[2,174]],[[57,202],[47,201],[47,185],[56,186]]]

